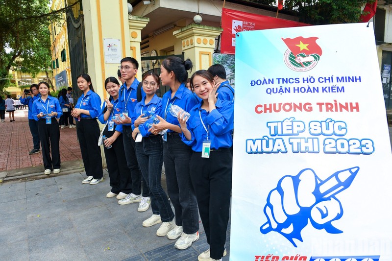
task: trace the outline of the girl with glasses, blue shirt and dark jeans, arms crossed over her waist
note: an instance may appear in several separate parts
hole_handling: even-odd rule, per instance
[[[143,136],[141,142],[135,142],[136,156],[140,171],[150,191],[150,197],[146,200],[151,199],[152,215],[143,222],[143,226],[151,227],[163,222],[156,235],[164,237],[175,224],[172,207],[161,185],[163,140],[162,135],[153,135],[148,131],[149,124],[155,118],[154,115],[159,115],[162,110],[161,98],[155,94],[159,89],[159,77],[157,74],[150,72],[144,76],[142,82],[146,97],[136,104],[132,116],[132,137],[136,139],[136,135]],[[149,116],[151,117],[149,118]]]

